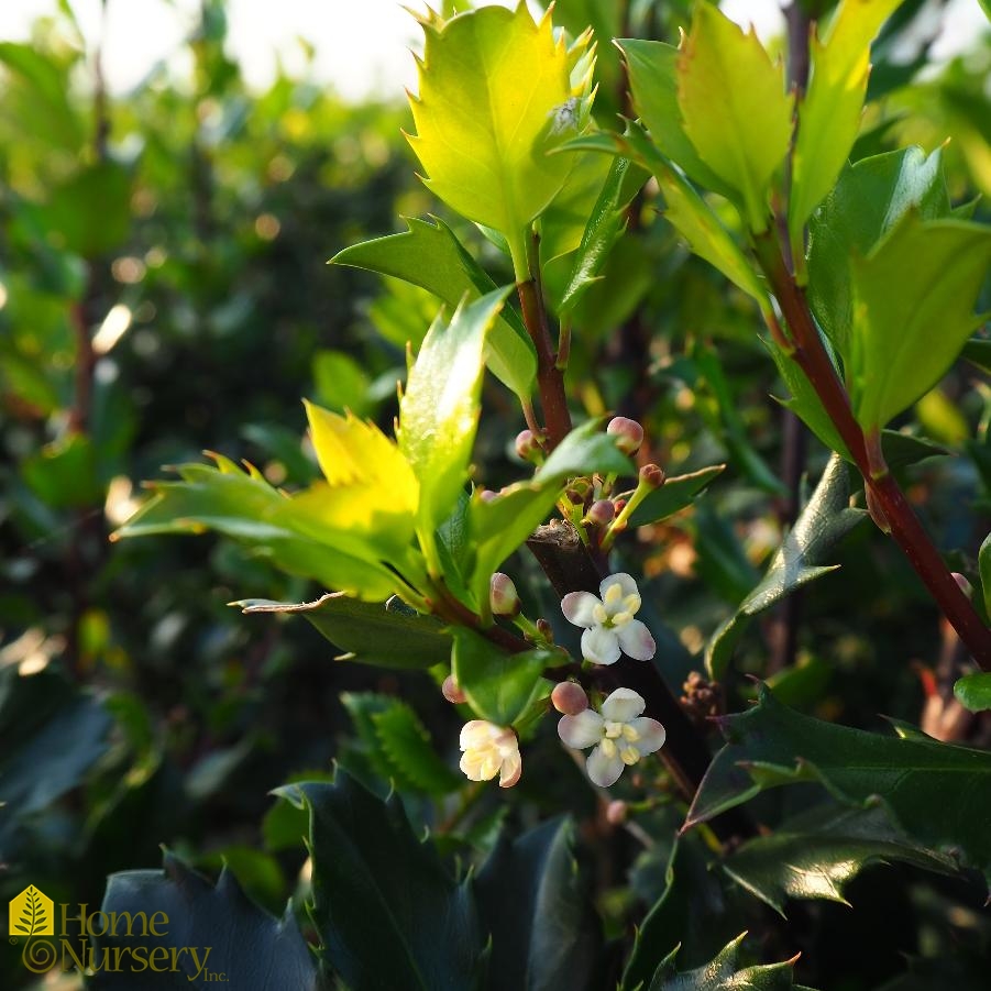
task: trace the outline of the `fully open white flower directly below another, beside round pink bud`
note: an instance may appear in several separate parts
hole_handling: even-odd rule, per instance
[[[569,747],[595,747],[585,770],[599,788],[615,784],[624,768],[664,746],[664,727],[640,715],[646,705],[632,689],[616,689],[602,704],[602,715],[586,708],[576,716],[562,716],[558,723],[558,736]]]

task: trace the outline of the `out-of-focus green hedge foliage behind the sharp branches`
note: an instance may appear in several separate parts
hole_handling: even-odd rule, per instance
[[[909,0],[882,36],[857,155],[950,139],[951,196],[968,202],[991,195],[991,40],[931,65],[940,7]],[[686,10],[558,0],[559,23],[601,32],[603,126],[627,106],[603,35],[672,40]],[[329,775],[337,757],[379,793],[392,778],[414,819],[439,827],[453,851],[485,849],[507,817],[532,824],[571,808],[619,934],[657,898],[668,851],[641,858],[624,887],[636,849],[624,835],[603,852],[613,827],[579,772],[561,772],[552,731],[511,793],[488,790],[467,808],[425,797],[376,750],[375,717],[401,697],[453,768],[460,719],[430,679],[335,663],[308,625],[227,605],[321,590],[212,538],[108,540],[142,480],[205,447],[276,484],[306,482],[316,467],[300,440],[301,396],[389,426],[406,342],[416,346],[436,304],[327,266],[337,251],[403,230],[400,214],[437,212],[497,282],[510,278],[506,260],[416,179],[400,95],[345,104],[284,71],[251,91],[224,54],[225,30],[224,4],[205,0],[187,42],[190,77],[179,85],[152,68],[114,98],[67,3],[32,43],[0,44],[0,903],[30,882],[56,902],[98,904],[108,872],[155,866],[166,844],[207,871],[227,860],[278,911],[306,890],[304,826],[267,792]],[[988,217],[983,202],[977,210]],[[826,452],[796,440],[772,398],[785,389],[748,301],[690,255],[649,197],[635,200],[606,276],[576,320],[575,410],[643,421],[642,456],[669,474],[728,465],[694,510],[621,550],[650,579],[648,621],[664,630],[661,662],[679,684],[758,581],[794,518],[803,472],[817,476]],[[522,473],[511,439],[524,423],[509,393],[486,389],[477,474],[498,487]],[[903,472],[938,543],[971,576],[991,505],[989,419],[991,389],[961,363],[896,425],[945,451]],[[822,717],[876,728],[883,712],[933,731],[953,716],[951,636],[869,525],[836,562],[838,576],[750,629],[738,669]],[[532,562],[514,569],[521,587],[531,582],[533,612],[557,621]],[[728,693],[740,708],[751,689]],[[668,814],[661,799],[653,815]],[[899,977],[899,954],[938,959],[951,946],[962,947],[958,987],[971,986],[968,955],[987,950],[987,917],[949,882],[921,878],[871,873],[855,889],[865,898],[851,899],[855,923],[841,906],[803,907],[825,987],[931,987]],[[905,912],[868,911],[892,899]],[[836,932],[846,957],[822,953]],[[865,969],[858,947],[871,944],[884,949]],[[0,983],[26,980],[19,960],[0,958]]]

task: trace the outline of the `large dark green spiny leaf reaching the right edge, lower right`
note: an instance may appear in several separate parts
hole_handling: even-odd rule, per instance
[[[758,705],[722,720],[716,755],[686,826],[748,801],[767,788],[818,781],[852,806],[880,802],[916,843],[951,851],[991,877],[991,752],[922,733],[882,736],[803,716],[763,685]]]

